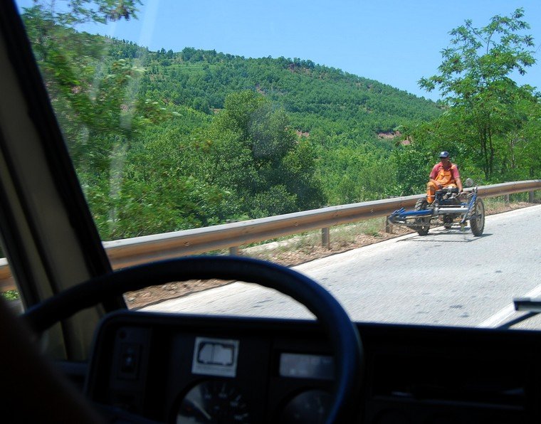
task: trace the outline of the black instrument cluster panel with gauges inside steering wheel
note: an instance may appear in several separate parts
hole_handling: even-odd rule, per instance
[[[300,340],[288,334],[295,325],[236,332],[227,322],[209,329],[187,317],[114,316],[95,344],[88,395],[158,422],[323,422],[334,361],[315,323]]]

